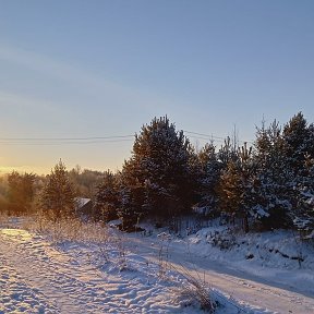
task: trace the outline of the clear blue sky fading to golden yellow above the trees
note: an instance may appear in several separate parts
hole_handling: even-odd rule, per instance
[[[166,114],[197,147],[312,123],[313,56],[312,0],[0,0],[0,171],[121,169]]]

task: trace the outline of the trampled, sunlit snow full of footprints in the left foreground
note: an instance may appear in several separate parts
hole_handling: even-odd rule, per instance
[[[167,287],[146,281],[136,271],[82,265],[27,231],[0,229],[1,314],[188,313]]]

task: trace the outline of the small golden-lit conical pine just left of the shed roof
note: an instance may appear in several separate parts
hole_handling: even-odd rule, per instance
[[[48,182],[43,190],[40,203],[46,213],[55,220],[74,215],[74,186],[69,180],[64,164],[60,161],[48,176]]]

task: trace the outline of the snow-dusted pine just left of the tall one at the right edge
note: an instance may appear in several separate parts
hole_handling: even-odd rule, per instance
[[[275,120],[266,129],[263,121],[257,128],[255,159],[257,165],[254,185],[255,213],[265,228],[291,226],[293,207],[293,173],[287,158],[287,146],[279,123]]]

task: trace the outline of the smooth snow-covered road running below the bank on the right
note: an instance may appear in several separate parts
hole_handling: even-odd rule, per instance
[[[158,242],[157,239],[138,235],[129,238],[133,240],[130,241],[130,239],[128,239],[130,247],[136,247],[138,254],[142,256],[150,256],[153,261],[156,261],[158,251],[160,251],[160,241]],[[313,291],[314,282],[310,290],[309,287],[304,287],[304,289],[302,289],[302,287],[287,287],[289,280],[285,286],[275,280],[264,280],[263,277],[252,276],[252,274],[249,273],[245,274],[244,271],[228,268],[227,265],[210,261],[210,257],[197,257],[197,255],[188,252],[182,241],[181,244],[176,242],[167,244],[164,242],[162,245],[164,252],[166,246],[169,245],[167,249],[169,252],[168,257],[165,257],[165,259],[168,259],[169,264],[176,269],[182,269],[182,266],[183,271],[190,269],[193,276],[204,278],[213,288],[228,293],[238,301],[243,301],[256,307],[267,309],[275,313],[314,313],[314,295],[312,295],[313,298],[309,295]],[[300,285],[302,285],[302,282],[300,282]],[[304,292],[300,293],[299,291],[302,290]]]

